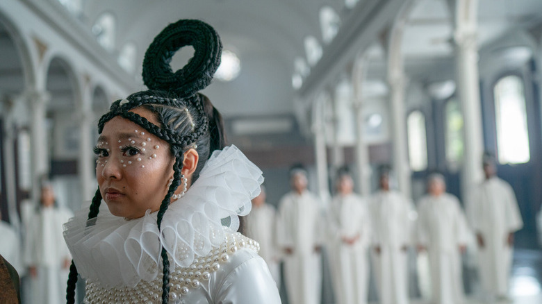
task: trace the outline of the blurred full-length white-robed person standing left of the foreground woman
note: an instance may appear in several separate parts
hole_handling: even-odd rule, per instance
[[[24,262],[31,276],[31,303],[65,302],[67,276],[72,260],[63,237],[63,223],[73,213],[55,206],[51,185],[42,187],[40,209],[28,223]]]

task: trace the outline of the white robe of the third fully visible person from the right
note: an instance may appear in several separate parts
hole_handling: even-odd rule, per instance
[[[412,242],[412,209],[411,202],[395,191],[379,191],[370,199],[372,243],[380,248],[380,253],[372,252],[372,261],[381,304],[408,301],[407,253],[403,248]]]

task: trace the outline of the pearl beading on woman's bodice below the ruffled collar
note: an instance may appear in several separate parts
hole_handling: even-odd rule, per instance
[[[204,286],[208,289],[213,284],[213,273],[218,271],[221,264],[227,264],[231,260],[228,248],[236,246],[239,249],[247,248],[252,251],[259,251],[260,245],[240,233],[227,234],[220,246],[213,247],[211,252],[204,257],[195,259],[190,267],[174,265],[170,272],[170,301],[183,303],[183,296],[190,294],[190,291]],[[233,253],[232,253],[233,254]],[[172,260],[171,256],[170,259]],[[173,260],[172,260],[173,261]],[[215,262],[213,262],[215,261]],[[173,265],[172,265],[173,266]],[[217,279],[217,278],[215,278]],[[136,287],[107,287],[101,285],[97,280],[87,279],[85,290],[85,304],[90,303],[162,303],[162,272],[154,280],[147,282],[141,280]]]

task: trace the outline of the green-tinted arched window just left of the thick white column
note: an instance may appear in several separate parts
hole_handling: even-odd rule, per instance
[[[449,99],[445,105],[444,145],[446,162],[456,167],[463,160],[463,115],[457,99]]]

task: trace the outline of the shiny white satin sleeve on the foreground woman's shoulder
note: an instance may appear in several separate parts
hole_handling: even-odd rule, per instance
[[[219,280],[213,298],[216,304],[281,303],[277,284],[268,265],[256,253],[245,251],[236,257],[236,267]]]

